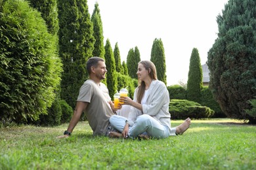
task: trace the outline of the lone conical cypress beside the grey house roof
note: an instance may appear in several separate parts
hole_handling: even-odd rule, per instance
[[[200,92],[203,88],[203,71],[200,56],[197,48],[193,48],[190,56],[190,65],[188,71],[187,99],[200,102]]]

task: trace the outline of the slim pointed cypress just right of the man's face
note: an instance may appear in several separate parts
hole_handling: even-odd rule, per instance
[[[114,58],[114,53],[111,48],[110,40],[106,40],[105,45],[105,59],[106,59],[106,68],[108,70],[107,86],[110,97],[114,96],[117,90],[117,75],[116,75],[116,62]]]

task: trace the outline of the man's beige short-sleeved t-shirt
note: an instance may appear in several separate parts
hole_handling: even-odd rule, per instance
[[[87,102],[85,116],[93,129],[93,135],[108,135],[109,118],[114,115],[108,88],[100,82],[98,86],[93,80],[86,80],[79,90],[77,101]]]

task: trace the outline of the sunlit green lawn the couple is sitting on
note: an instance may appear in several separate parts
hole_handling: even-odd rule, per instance
[[[56,139],[67,127],[1,128],[0,169],[256,168],[256,126],[237,120],[192,120],[183,135],[142,141],[92,137],[87,122]]]

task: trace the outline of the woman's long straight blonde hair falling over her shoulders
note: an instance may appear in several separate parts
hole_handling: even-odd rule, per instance
[[[152,80],[158,79],[156,75],[156,66],[154,65],[154,63],[152,63],[152,61],[146,61],[146,60],[140,61],[138,65],[139,64],[142,64],[144,66],[144,68],[148,71],[148,76],[150,76]],[[146,90],[146,84],[144,81],[140,81],[139,78],[138,78],[138,84],[139,84],[139,87],[138,87],[138,93],[137,93],[137,102],[141,104],[142,97]]]

